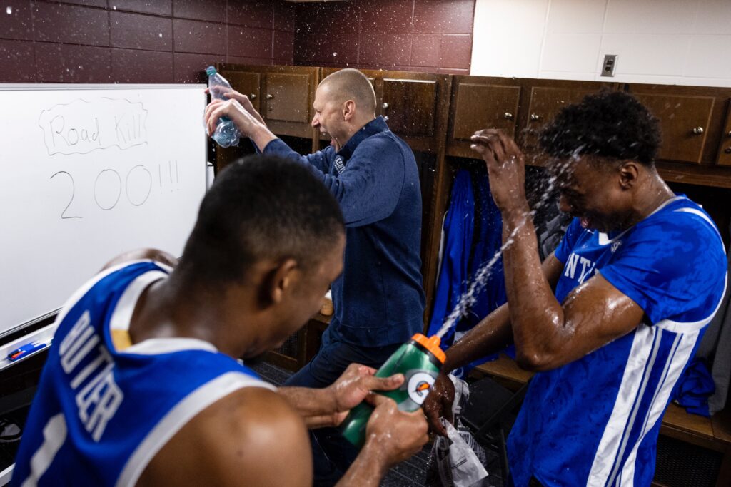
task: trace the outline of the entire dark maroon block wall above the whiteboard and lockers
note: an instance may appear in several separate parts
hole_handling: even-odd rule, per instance
[[[0,83],[201,83],[216,61],[469,73],[474,0],[0,0]]]

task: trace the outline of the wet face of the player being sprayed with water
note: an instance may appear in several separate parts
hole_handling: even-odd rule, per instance
[[[580,218],[585,229],[608,233],[625,228],[630,195],[620,183],[618,164],[580,156],[556,161],[550,171],[556,176],[562,212]]]

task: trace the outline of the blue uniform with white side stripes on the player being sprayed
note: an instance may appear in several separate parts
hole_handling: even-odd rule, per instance
[[[518,487],[649,486],[662,414],[723,298],[727,261],[711,218],[678,196],[631,229],[575,219],[556,258],[563,302],[596,272],[645,311],[634,331],[534,376],[510,432]]]

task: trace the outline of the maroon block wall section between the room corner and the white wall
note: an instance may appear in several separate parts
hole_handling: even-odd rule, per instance
[[[469,74],[474,0],[298,4],[295,64]]]

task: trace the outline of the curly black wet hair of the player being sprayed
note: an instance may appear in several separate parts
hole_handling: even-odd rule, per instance
[[[634,96],[601,91],[562,108],[538,142],[555,158],[588,154],[654,166],[661,135],[657,118]]]

